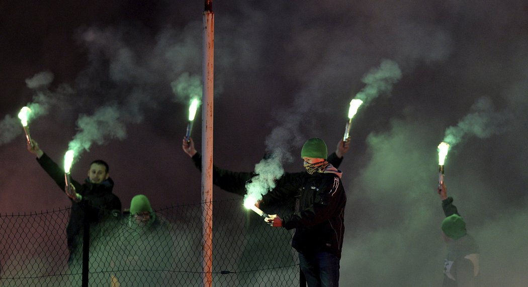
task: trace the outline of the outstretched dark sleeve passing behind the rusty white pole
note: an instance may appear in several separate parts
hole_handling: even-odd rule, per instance
[[[196,168],[202,171],[202,155],[200,152],[196,152],[192,160]],[[229,193],[245,195],[246,183],[253,176],[255,176],[254,173],[230,171],[213,164],[213,184]]]

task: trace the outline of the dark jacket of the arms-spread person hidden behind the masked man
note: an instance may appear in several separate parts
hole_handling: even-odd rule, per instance
[[[196,168],[202,171],[202,155],[200,152],[196,152],[196,154],[192,157],[192,160]],[[338,168],[342,161],[343,158],[338,158],[335,152],[328,156],[328,162],[335,168]],[[306,174],[305,171],[300,173],[284,173],[284,176],[282,177],[295,178],[303,176],[304,174]],[[244,171],[238,172],[222,169],[213,164],[213,184],[229,193],[234,193],[241,196],[246,195],[246,183],[248,183],[248,181],[256,175],[257,174],[255,173],[248,173]]]

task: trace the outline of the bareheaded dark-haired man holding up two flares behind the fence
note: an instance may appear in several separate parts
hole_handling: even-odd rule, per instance
[[[27,150],[37,156],[37,161],[55,183],[63,191],[67,190],[64,182],[64,169],[46,155],[35,140],[32,140],[32,144],[27,145]],[[66,192],[72,202],[70,219],[66,227],[68,250],[70,251],[69,260],[72,259],[72,255],[77,250],[77,241],[82,238],[80,235],[85,217],[90,224],[97,224],[106,216],[121,212],[121,202],[112,193],[114,181],[109,176],[108,164],[102,160],[95,160],[91,162],[88,177],[83,184],[76,180],[71,181],[71,193]]]

